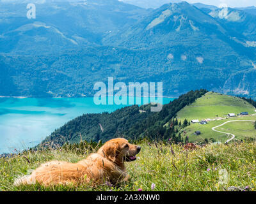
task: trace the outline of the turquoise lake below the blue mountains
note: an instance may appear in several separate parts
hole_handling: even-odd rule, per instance
[[[139,99],[143,104],[148,103]],[[163,98],[163,104],[173,99]],[[33,147],[54,129],[84,113],[113,112],[124,106],[128,105],[95,105],[93,97],[0,98],[0,154]]]

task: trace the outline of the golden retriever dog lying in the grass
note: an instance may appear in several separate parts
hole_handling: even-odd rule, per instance
[[[136,154],[141,147],[132,145],[124,138],[115,138],[104,143],[97,153],[90,154],[78,163],[65,161],[50,161],[36,168],[31,175],[15,180],[15,186],[20,184],[116,184],[127,180],[125,161],[136,160]]]

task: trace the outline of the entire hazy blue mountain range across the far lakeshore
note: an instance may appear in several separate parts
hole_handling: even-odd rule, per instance
[[[256,16],[246,11],[47,0],[28,19],[27,3],[1,2],[0,96],[93,96],[95,82],[114,77],[163,82],[164,96],[256,97]]]

